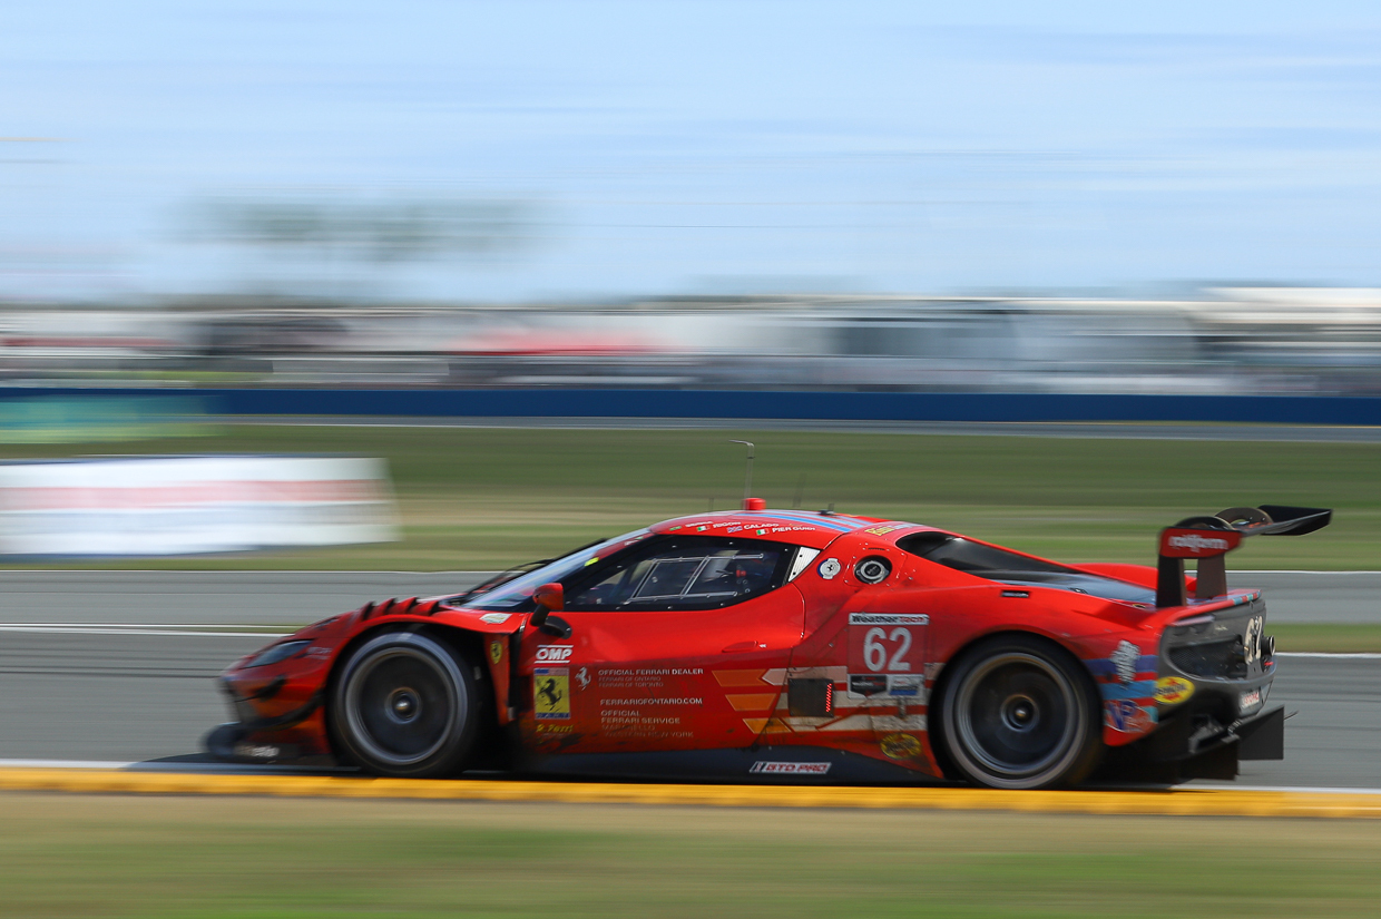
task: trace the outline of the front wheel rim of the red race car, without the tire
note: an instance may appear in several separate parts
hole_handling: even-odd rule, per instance
[[[363,661],[345,688],[345,717],[365,752],[388,766],[412,766],[454,735],[456,685],[432,655],[388,648]]]

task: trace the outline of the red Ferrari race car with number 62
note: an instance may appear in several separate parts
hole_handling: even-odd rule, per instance
[[[225,670],[236,721],[207,748],[391,777],[1007,789],[1233,778],[1283,757],[1265,604],[1228,589],[1224,556],[1330,510],[1193,517],[1145,567],[744,506],[307,626]]]

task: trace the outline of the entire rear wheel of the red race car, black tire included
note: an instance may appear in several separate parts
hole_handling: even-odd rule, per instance
[[[1037,636],[994,636],[950,666],[940,743],[963,778],[987,788],[1065,788],[1098,766],[1098,691],[1068,651]]]

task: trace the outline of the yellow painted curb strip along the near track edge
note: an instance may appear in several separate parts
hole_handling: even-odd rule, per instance
[[[0,768],[0,790],[126,795],[280,795],[294,797],[561,802],[573,804],[689,804],[710,807],[986,810],[1041,814],[1381,818],[1381,795],[1236,789],[1000,792],[975,788],[634,785]]]

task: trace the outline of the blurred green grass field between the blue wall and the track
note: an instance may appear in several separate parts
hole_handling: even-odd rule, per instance
[[[754,492],[772,507],[833,503],[1073,562],[1153,562],[1161,527],[1228,506],[1334,507],[1329,529],[1250,540],[1232,562],[1381,568],[1381,445],[1373,444],[383,427],[232,427],[195,448],[384,456],[400,542],[105,567],[499,568],[711,504],[736,506],[743,448],[731,438],[757,442]],[[119,452],[188,449],[189,441],[167,439]],[[0,456],[93,452],[108,448],[4,445]]]

